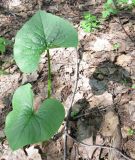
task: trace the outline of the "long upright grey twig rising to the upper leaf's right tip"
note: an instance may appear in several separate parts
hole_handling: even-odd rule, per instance
[[[72,99],[71,99],[71,104],[70,104],[70,107],[69,107],[69,110],[68,110],[68,113],[67,113],[67,119],[66,119],[66,122],[65,122],[65,132],[64,132],[64,160],[67,159],[67,135],[68,135],[68,127],[69,127],[69,117],[70,117],[70,113],[71,113],[71,110],[72,110],[72,105],[73,105],[73,102],[74,102],[74,97],[75,97],[75,93],[76,93],[76,90],[77,90],[77,85],[78,85],[78,79],[79,79],[79,66],[80,66],[80,62],[81,62],[81,58],[79,57],[78,58],[78,51],[76,49],[76,80],[75,80],[75,85],[74,85],[74,91],[73,91],[73,96],[72,96]]]

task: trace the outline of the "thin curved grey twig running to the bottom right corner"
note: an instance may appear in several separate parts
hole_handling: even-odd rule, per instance
[[[101,148],[101,149],[108,149],[108,150],[115,150],[116,152],[118,152],[122,157],[124,157],[126,160],[133,160],[131,159],[130,157],[126,156],[125,154],[123,154],[119,149],[115,148],[115,147],[111,147],[111,146],[104,146],[104,145],[98,145],[98,144],[95,144],[95,145],[90,145],[90,144],[86,144],[86,143],[83,143],[83,142],[80,142],[76,139],[74,139],[72,136],[70,136],[69,134],[67,134],[68,137],[72,138],[76,143],[79,143],[81,144],[82,146],[84,147],[93,147],[93,148]]]

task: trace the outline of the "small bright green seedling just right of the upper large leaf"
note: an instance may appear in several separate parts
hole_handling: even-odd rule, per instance
[[[80,25],[85,32],[92,32],[99,27],[100,22],[97,20],[97,17],[91,13],[85,12],[83,19]]]

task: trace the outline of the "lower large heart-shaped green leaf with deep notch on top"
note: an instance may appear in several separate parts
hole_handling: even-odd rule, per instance
[[[45,100],[35,111],[30,84],[16,90],[12,105],[13,111],[6,118],[5,134],[13,150],[50,139],[65,116],[63,105],[55,99]]]

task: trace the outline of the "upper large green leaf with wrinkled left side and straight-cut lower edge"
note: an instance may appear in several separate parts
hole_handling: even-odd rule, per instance
[[[40,55],[49,48],[77,47],[78,35],[66,20],[38,11],[18,31],[15,37],[14,58],[21,71],[37,69]]]

